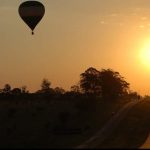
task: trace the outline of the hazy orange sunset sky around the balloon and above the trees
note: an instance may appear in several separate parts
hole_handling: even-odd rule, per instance
[[[150,61],[139,57],[150,43],[150,0],[39,1],[46,12],[32,36],[18,14],[24,0],[0,0],[0,88],[35,91],[47,78],[69,89],[92,66],[150,94]]]

